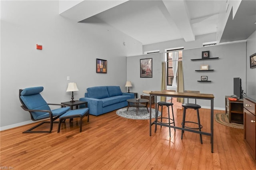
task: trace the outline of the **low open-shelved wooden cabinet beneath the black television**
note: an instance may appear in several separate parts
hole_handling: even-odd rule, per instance
[[[244,123],[243,112],[243,100],[230,101],[228,98],[231,96],[225,96],[226,99],[226,114],[229,116],[229,123]]]

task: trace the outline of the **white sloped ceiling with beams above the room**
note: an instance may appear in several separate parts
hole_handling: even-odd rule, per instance
[[[100,3],[100,1],[96,2]],[[226,12],[226,2],[226,0],[124,0],[119,5],[92,14],[80,22],[100,19],[143,45],[177,39],[190,42],[195,40],[195,36],[217,32],[220,14]],[[233,41],[234,37],[239,37],[236,40],[245,40],[256,30],[256,24],[253,24],[256,22],[256,1],[242,0],[240,6],[242,7],[238,8],[234,20],[232,15],[228,18],[222,42]],[[87,4],[86,8],[90,6]]]

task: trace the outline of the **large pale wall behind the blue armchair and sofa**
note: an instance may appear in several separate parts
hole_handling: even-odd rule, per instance
[[[19,89],[44,86],[48,103],[70,100],[68,82],[78,85],[76,100],[92,86],[120,85],[126,91],[125,56],[142,54],[140,42],[101,21],[85,24],[64,18],[58,14],[58,1],[0,3],[1,130],[30,122],[20,107]],[[42,50],[36,49],[37,43]],[[108,60],[107,74],[96,73],[96,58]]]

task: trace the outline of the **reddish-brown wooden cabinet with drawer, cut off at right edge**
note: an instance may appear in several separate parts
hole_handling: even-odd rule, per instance
[[[255,105],[256,103],[250,99],[244,99],[244,139],[254,160],[256,159]]]

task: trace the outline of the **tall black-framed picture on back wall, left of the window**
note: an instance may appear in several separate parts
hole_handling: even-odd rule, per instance
[[[140,59],[140,78],[152,78],[152,58]]]

